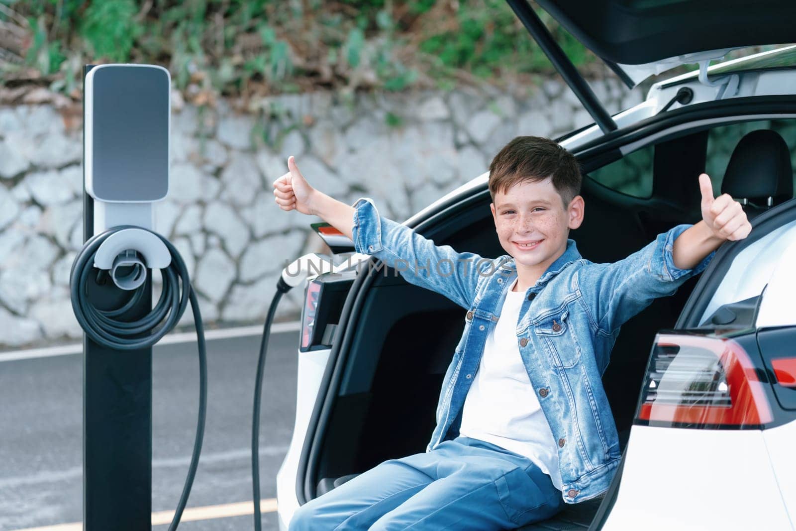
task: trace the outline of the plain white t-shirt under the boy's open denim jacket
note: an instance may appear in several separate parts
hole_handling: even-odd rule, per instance
[[[561,489],[558,448],[520,349],[517,322],[524,291],[509,288],[500,318],[487,336],[481,364],[464,400],[459,434],[524,455]]]

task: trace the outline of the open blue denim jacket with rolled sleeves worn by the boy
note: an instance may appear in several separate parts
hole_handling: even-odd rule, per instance
[[[353,206],[357,252],[467,310],[440,389],[437,425],[426,448],[431,451],[458,435],[467,391],[517,267],[509,255],[486,259],[435,245],[412,228],[380,217],[369,197]],[[677,225],[612,264],[582,258],[568,239],[564,254],[526,291],[515,329],[517,346],[558,443],[564,502],[596,498],[611,483],[621,453],[602,375],[620,326],[653,299],[672,295],[714,256],[710,253],[693,269],[674,265],[674,240],[691,226]]]

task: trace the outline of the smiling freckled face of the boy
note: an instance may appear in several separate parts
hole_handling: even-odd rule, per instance
[[[526,282],[536,282],[564,253],[569,229],[583,221],[583,197],[574,197],[565,208],[549,177],[517,182],[506,193],[497,191],[490,209],[501,246],[513,256],[517,274]]]

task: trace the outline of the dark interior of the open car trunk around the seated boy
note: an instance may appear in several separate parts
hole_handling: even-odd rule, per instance
[[[599,185],[584,179],[587,209],[581,228],[570,233],[579,252],[594,262],[621,260],[648,244],[659,232],[679,223],[698,221],[697,213],[679,214],[655,206],[654,201],[626,197],[625,205],[607,201]],[[505,254],[494,232],[484,191],[449,215],[433,231],[423,231],[436,244],[486,257]],[[685,219],[688,217],[688,219]],[[606,228],[622,227],[622,238],[606,237]],[[365,267],[363,271],[367,271]],[[373,271],[365,287],[353,341],[345,357],[341,384],[326,426],[314,477],[308,478],[315,496],[339,486],[354,475],[396,459],[425,451],[435,427],[435,408],[447,365],[464,326],[466,310],[443,295],[407,283],[395,271]],[[363,273],[365,274],[365,273]],[[689,279],[675,295],[656,299],[622,326],[603,374],[611,409],[624,450],[638,392],[654,335],[677,321],[696,283]],[[555,518],[525,529],[586,529],[600,499],[567,506]],[[578,522],[579,524],[576,524]],[[574,527],[573,527],[574,526]]]

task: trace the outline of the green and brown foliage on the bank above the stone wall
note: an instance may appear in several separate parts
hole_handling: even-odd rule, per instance
[[[4,72],[33,68],[72,93],[83,64],[170,68],[191,98],[325,88],[451,88],[552,68],[505,0],[0,0],[27,34]],[[540,11],[576,64],[594,61]],[[20,74],[21,75],[21,74]],[[32,76],[35,77],[35,76]],[[16,78],[19,79],[19,78]],[[2,83],[2,81],[0,81]],[[209,96],[211,95],[211,96]]]

